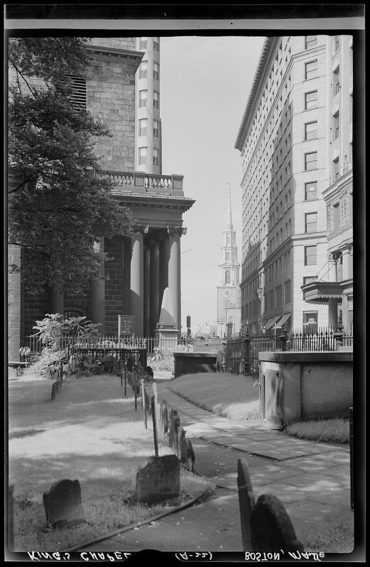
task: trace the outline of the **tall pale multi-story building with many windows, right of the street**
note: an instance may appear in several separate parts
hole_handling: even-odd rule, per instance
[[[342,303],[347,325],[350,261],[345,276],[337,275],[346,279],[342,286],[322,294],[309,282],[330,281],[328,250],[342,249],[338,242],[328,249],[327,208],[339,191],[336,235],[352,250],[352,38],[267,38],[236,148],[243,164],[242,332],[336,327]]]

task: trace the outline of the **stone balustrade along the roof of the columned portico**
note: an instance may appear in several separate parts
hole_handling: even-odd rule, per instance
[[[113,185],[113,193],[165,194],[183,196],[183,175],[156,175],[144,172],[101,171],[99,177],[107,179]]]

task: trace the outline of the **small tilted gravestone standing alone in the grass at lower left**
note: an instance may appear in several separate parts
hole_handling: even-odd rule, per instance
[[[54,483],[50,490],[42,495],[46,523],[52,527],[71,527],[85,522],[81,504],[79,481],[68,479]]]

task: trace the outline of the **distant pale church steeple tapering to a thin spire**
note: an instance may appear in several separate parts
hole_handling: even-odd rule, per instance
[[[231,215],[231,189],[227,201],[226,224],[222,233],[219,285],[217,286],[217,335],[237,335],[241,328],[238,247]]]

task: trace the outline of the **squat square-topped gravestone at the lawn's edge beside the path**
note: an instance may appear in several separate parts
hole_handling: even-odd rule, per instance
[[[163,503],[180,497],[180,461],[176,455],[152,456],[137,473],[139,502]]]

